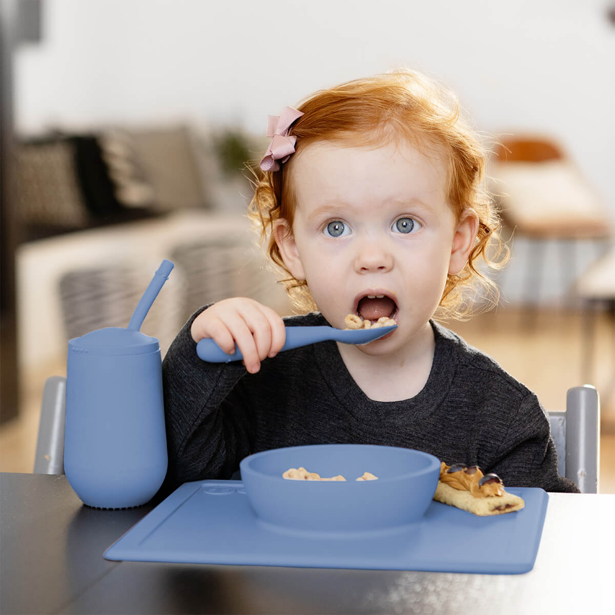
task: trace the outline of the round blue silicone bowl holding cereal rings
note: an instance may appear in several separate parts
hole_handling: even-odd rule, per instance
[[[346,482],[288,480],[303,466]],[[289,446],[240,463],[242,482],[261,522],[291,530],[365,531],[402,528],[423,517],[434,497],[440,460],[410,448],[363,444]],[[363,472],[378,480],[357,481]]]

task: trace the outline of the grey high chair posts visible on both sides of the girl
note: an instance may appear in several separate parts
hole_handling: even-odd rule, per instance
[[[66,378],[45,381],[41,420],[34,456],[34,474],[64,474]],[[558,474],[573,481],[581,493],[598,493],[600,473],[600,398],[585,384],[568,389],[566,411],[550,412],[551,435],[557,448]]]

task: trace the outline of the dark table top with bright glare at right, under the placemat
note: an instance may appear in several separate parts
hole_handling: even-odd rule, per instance
[[[614,604],[615,495],[550,494],[536,564],[521,575],[105,560],[149,510],[90,509],[64,476],[1,474],[0,613],[518,615]]]

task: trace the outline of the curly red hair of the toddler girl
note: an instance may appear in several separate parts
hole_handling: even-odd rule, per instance
[[[499,216],[485,186],[486,150],[465,121],[453,92],[424,74],[408,69],[355,79],[315,92],[297,107],[303,112],[290,129],[297,139],[296,154],[277,171],[263,173],[255,182],[248,215],[260,232],[271,261],[285,272],[284,282],[300,312],[317,309],[305,280],[296,280],[285,268],[273,237],[276,220],[292,228],[295,213],[293,159],[317,141],[378,147],[410,140],[413,145],[443,152],[448,166],[446,194],[458,220],[471,207],[478,215],[478,232],[468,262],[459,274],[449,275],[437,317],[467,316],[472,297],[493,305],[498,288],[479,269],[479,262],[499,269],[508,250],[499,235]]]

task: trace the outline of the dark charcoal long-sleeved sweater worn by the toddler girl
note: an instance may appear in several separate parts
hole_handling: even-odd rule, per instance
[[[536,395],[437,323],[423,390],[411,399],[376,402],[357,386],[332,341],[280,352],[254,375],[241,362],[202,362],[190,335],[199,312],[162,364],[164,493],[188,480],[229,478],[251,453],[322,443],[406,446],[449,465],[495,472],[507,486],[578,491],[557,474],[549,419]],[[327,324],[320,314],[285,322]]]

